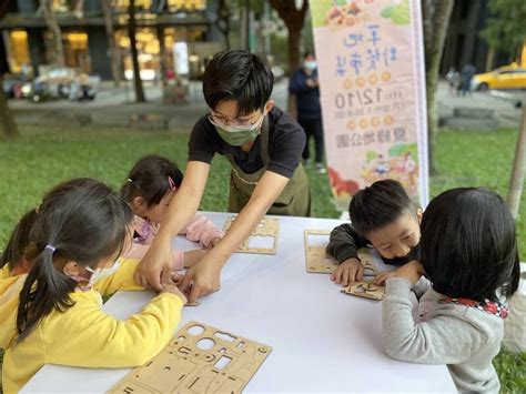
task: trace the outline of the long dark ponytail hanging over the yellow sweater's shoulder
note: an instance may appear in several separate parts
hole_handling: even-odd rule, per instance
[[[23,341],[53,309],[64,311],[74,304],[69,293],[74,291],[77,284],[54,269],[53,249],[47,246],[37,256],[20,292],[18,342]]]

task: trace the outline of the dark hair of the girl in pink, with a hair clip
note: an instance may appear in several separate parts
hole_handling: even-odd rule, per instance
[[[148,206],[156,205],[172,189],[169,178],[178,189],[181,186],[183,173],[178,165],[166,158],[149,154],[133,165],[121,188],[121,196],[128,203],[142,196]]]

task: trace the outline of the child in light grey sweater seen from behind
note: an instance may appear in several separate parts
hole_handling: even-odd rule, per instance
[[[503,340],[503,302],[517,290],[520,274],[509,210],[485,189],[444,192],[424,213],[419,246],[421,263],[413,261],[386,280],[382,313],[387,354],[447,364],[461,392],[498,393],[492,361]],[[412,315],[412,289],[422,294],[419,321]]]

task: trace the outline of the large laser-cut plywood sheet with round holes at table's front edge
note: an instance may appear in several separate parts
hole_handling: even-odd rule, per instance
[[[241,393],[272,348],[190,322],[109,393]]]

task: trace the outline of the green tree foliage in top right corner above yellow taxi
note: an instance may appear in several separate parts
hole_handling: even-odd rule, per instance
[[[516,54],[526,41],[526,1],[489,0],[492,18],[482,37],[489,47]]]

